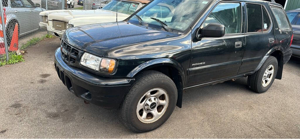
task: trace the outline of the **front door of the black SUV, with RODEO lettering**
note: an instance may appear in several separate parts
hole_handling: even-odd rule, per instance
[[[223,24],[225,35],[192,42],[188,87],[237,75],[245,47],[242,17],[241,2],[221,2],[206,17],[200,28]]]

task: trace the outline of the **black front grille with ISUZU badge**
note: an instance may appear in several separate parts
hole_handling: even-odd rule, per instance
[[[61,57],[69,65],[74,65],[76,63],[76,58],[78,57],[79,50],[61,41]]]

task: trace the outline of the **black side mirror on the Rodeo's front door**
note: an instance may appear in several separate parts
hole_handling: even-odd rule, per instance
[[[220,38],[225,35],[225,26],[222,24],[211,23],[203,29],[198,29],[196,38],[201,39],[203,37]]]

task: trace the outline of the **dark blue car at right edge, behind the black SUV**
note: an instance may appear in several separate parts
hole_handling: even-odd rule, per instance
[[[300,57],[300,9],[286,11],[286,14],[289,17],[294,34],[291,50],[293,56]]]

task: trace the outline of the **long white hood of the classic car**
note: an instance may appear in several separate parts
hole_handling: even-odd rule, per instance
[[[118,17],[128,17],[128,14],[118,13]],[[48,20],[62,20],[69,22],[72,19],[82,18],[82,20],[87,21],[85,18],[115,18],[116,12],[107,10],[61,10],[56,12],[51,12],[48,15]],[[119,19],[118,19],[119,20]]]

